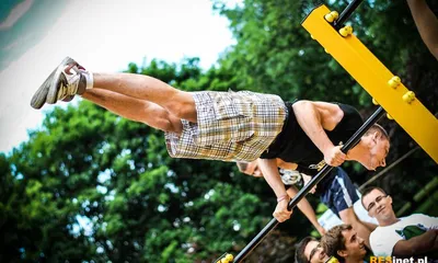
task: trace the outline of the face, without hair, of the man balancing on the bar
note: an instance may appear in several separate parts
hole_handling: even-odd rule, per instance
[[[379,167],[385,167],[385,158],[390,151],[390,141],[385,138],[380,138],[378,133],[367,137],[369,156],[361,164],[371,171],[374,171]]]

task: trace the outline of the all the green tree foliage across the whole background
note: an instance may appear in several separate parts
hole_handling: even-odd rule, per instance
[[[215,9],[230,20],[237,44],[218,67],[198,58],[180,65],[151,60],[127,72],[157,77],[186,91],[253,90],[341,101],[368,116],[370,96],[312,41],[300,23],[312,1],[245,0]],[[331,1],[342,10],[346,1]],[[437,5],[433,5],[437,11]],[[359,38],[424,104],[437,111],[437,61],[428,54],[404,1],[365,1],[350,19]],[[415,142],[394,122],[388,162]],[[357,182],[372,173],[345,168]],[[275,198],[263,180],[232,163],[171,159],[162,133],[118,117],[87,101],[49,112],[30,140],[0,155],[1,262],[210,262],[239,252],[272,218]],[[437,174],[417,151],[379,185],[394,205]],[[315,203],[314,197],[310,197]],[[293,243],[312,231],[295,211],[249,258],[290,262]]]

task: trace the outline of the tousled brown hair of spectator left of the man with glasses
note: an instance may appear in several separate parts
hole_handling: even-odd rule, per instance
[[[330,229],[321,239],[322,248],[325,251],[325,254],[328,256],[333,255],[337,260],[342,260],[337,254],[338,250],[345,250],[345,238],[342,235],[345,230],[351,230],[351,225],[339,225]]]

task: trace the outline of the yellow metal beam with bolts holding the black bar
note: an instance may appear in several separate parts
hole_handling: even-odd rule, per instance
[[[336,32],[324,19],[330,12],[315,8],[302,26],[438,163],[438,119],[354,34]]]

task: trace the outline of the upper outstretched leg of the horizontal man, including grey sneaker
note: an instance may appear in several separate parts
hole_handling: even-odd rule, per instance
[[[65,58],[32,98],[31,105],[41,108],[44,103],[69,101],[92,88],[114,91],[127,96],[153,102],[172,115],[196,122],[195,102],[189,92],[142,75],[92,73],[72,58]]]

